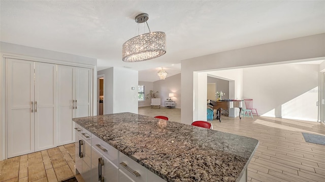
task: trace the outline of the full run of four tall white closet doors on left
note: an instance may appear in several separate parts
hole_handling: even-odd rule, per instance
[[[15,58],[6,66],[7,158],[75,142],[72,118],[91,115],[92,69]]]

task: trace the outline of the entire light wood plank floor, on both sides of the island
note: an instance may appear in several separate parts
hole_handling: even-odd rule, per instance
[[[139,114],[165,115],[180,122],[177,108],[140,107]],[[307,143],[302,136],[302,132],[325,135],[323,124],[256,115],[221,119],[211,122],[214,130],[259,140],[248,165],[248,181],[325,181],[325,145]],[[0,161],[0,181],[60,181],[73,176],[74,150],[72,143]]]

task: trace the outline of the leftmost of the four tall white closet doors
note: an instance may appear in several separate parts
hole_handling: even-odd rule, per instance
[[[34,62],[7,59],[8,158],[32,153],[34,141]]]

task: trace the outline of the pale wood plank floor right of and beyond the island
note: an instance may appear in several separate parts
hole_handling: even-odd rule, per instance
[[[140,107],[139,114],[165,115],[180,122],[180,109]],[[325,181],[325,145],[308,143],[302,132],[325,135],[325,125],[304,120],[262,117],[241,120],[221,116],[214,119],[214,130],[259,140],[248,165],[247,181]],[[176,118],[176,119],[174,119]]]

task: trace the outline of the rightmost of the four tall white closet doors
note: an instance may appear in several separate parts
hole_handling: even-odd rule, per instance
[[[76,102],[74,117],[90,116],[91,111],[91,69],[75,68]]]

